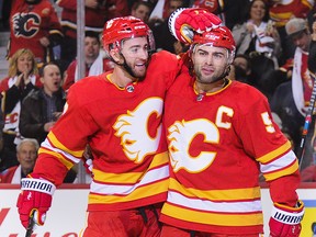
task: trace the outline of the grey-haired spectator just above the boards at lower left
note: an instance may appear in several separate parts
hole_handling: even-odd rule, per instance
[[[18,166],[10,167],[0,173],[0,183],[20,184],[33,171],[37,158],[38,143],[36,139],[24,138],[16,146]]]

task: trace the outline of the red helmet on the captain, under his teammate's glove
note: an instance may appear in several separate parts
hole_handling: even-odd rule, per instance
[[[193,45],[196,44],[211,44],[214,47],[227,48],[230,54],[235,55],[235,41],[232,32],[226,26],[218,26],[202,34],[195,34],[193,37]]]

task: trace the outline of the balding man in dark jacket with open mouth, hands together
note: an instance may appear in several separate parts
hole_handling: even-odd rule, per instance
[[[48,63],[41,69],[43,88],[32,90],[23,100],[20,114],[20,133],[41,144],[60,116],[66,94],[61,89],[59,67]]]

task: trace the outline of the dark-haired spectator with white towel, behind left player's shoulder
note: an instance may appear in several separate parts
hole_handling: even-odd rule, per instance
[[[99,34],[95,32],[87,31],[84,36],[84,77],[101,75],[108,70],[113,69],[114,63],[109,58],[103,58],[100,48],[101,43]],[[63,89],[67,91],[70,86],[78,80],[80,80],[80,78],[78,78],[78,67],[76,59],[65,71]]]

